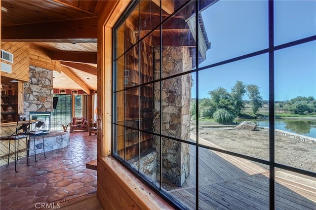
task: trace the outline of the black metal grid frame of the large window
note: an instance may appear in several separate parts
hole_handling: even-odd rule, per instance
[[[118,59],[116,57],[116,49],[117,49],[116,48],[116,40],[117,40],[116,29],[125,20],[125,18],[131,12],[131,10],[134,8],[134,5],[137,4],[137,2],[139,2],[139,1],[135,0],[128,6],[128,8],[123,13],[123,15],[121,16],[120,20],[118,21],[118,23],[113,28],[114,29],[113,30],[113,37],[114,37],[113,38],[113,49],[114,50],[113,50],[113,95],[112,95],[113,96],[112,97],[113,98],[113,102],[112,102],[112,104],[113,104],[113,114],[112,114],[112,116],[113,116],[113,118],[112,118],[112,127],[113,127],[113,131],[112,131],[113,142],[112,142],[112,145],[113,145],[113,148],[112,148],[112,154],[122,165],[124,165],[128,170],[130,170],[138,178],[143,180],[146,183],[146,185],[148,185],[150,188],[152,188],[156,193],[158,193],[158,195],[160,195],[162,198],[164,198],[169,204],[173,205],[173,207],[175,207],[177,209],[185,209],[185,207],[183,207],[180,203],[178,203],[176,200],[174,200],[174,198],[170,197],[168,194],[166,194],[162,190],[160,190],[157,186],[153,185],[150,181],[148,181],[146,179],[146,177],[144,177],[141,173],[139,173],[139,171],[137,171],[134,168],[132,168],[126,161],[124,161],[124,159],[122,159],[121,157],[119,157],[118,155],[115,154],[115,151],[117,149],[117,145],[116,145],[117,136],[116,136],[116,129],[115,129],[116,126],[122,126],[122,127],[125,127],[125,128],[135,129],[135,130],[137,130],[139,132],[145,132],[146,133],[146,131],[143,131],[143,130],[141,130],[139,128],[138,129],[137,128],[131,128],[131,127],[128,127],[126,125],[119,125],[119,124],[116,123],[117,122],[117,119],[116,119],[116,107],[117,107],[117,104],[116,104],[116,93],[129,89],[129,88],[126,88],[124,90],[116,91],[116,89],[117,89],[117,86],[116,86],[116,76],[117,76],[116,75],[116,68],[117,68],[116,60]],[[187,1],[185,4],[183,4],[181,7],[179,7],[173,14],[175,14],[177,11],[181,10],[183,7],[185,7],[190,2],[191,1]],[[160,3],[161,3],[161,1],[160,1]],[[196,12],[195,12],[196,20],[198,20],[197,14],[198,14],[199,1],[196,1],[195,5],[196,5]],[[275,27],[274,26],[274,22],[275,22],[275,20],[274,20],[274,12],[275,12],[274,11],[274,0],[269,0],[268,1],[269,34],[267,35],[269,37],[269,47],[268,48],[262,49],[262,50],[259,50],[259,51],[256,51],[256,52],[252,52],[252,53],[249,53],[249,54],[241,55],[241,56],[238,56],[238,57],[235,57],[235,58],[232,58],[232,59],[228,59],[228,60],[225,60],[225,61],[222,61],[222,62],[218,62],[218,63],[215,63],[215,64],[211,64],[211,65],[208,65],[208,66],[204,66],[202,68],[198,67],[198,55],[196,55],[196,64],[197,64],[196,69],[182,73],[182,74],[187,74],[187,73],[195,72],[196,75],[197,75],[195,82],[196,82],[196,84],[198,84],[198,72],[200,70],[205,70],[205,69],[209,69],[209,68],[212,68],[212,67],[221,66],[221,65],[224,65],[224,64],[229,64],[229,63],[232,63],[232,62],[235,62],[235,61],[240,61],[240,60],[243,60],[243,59],[246,59],[246,58],[251,58],[251,57],[254,57],[254,56],[257,56],[257,55],[268,54],[269,55],[269,128],[270,128],[269,144],[273,145],[273,146],[269,146],[269,153],[270,153],[269,160],[254,158],[254,157],[250,157],[250,156],[247,156],[247,155],[238,154],[238,153],[235,153],[235,152],[230,152],[230,151],[226,151],[226,150],[222,150],[222,149],[218,149],[218,148],[214,148],[214,147],[199,145],[198,144],[198,135],[197,135],[197,141],[196,141],[196,143],[194,143],[194,142],[184,141],[184,140],[181,140],[181,139],[170,138],[168,136],[164,136],[164,135],[157,134],[157,133],[150,133],[152,135],[158,135],[160,137],[160,139],[161,138],[168,138],[168,139],[172,139],[172,140],[177,140],[177,141],[185,142],[185,143],[188,143],[188,144],[191,144],[191,145],[195,145],[197,148],[203,147],[203,148],[206,148],[206,149],[210,149],[212,151],[218,151],[218,152],[222,152],[222,153],[225,153],[225,154],[228,154],[228,155],[232,155],[232,156],[235,156],[235,157],[240,157],[240,158],[243,158],[243,159],[246,159],[246,160],[249,160],[249,161],[254,161],[254,162],[257,162],[257,163],[268,165],[269,168],[270,168],[270,177],[269,177],[270,178],[270,183],[269,183],[269,191],[270,191],[270,195],[269,195],[270,203],[269,204],[270,204],[270,209],[275,209],[275,205],[276,205],[276,192],[275,192],[275,188],[276,188],[276,186],[275,186],[275,169],[276,168],[284,169],[284,170],[295,172],[295,173],[302,174],[302,175],[308,175],[308,176],[311,176],[311,177],[316,177],[316,173],[314,173],[314,172],[310,172],[310,171],[302,170],[302,169],[299,169],[299,168],[295,168],[295,167],[279,164],[279,163],[276,163],[276,161],[275,161],[275,146],[274,146],[275,145],[275,107],[274,107],[274,105],[275,105],[275,86],[274,86],[274,79],[275,79],[274,78],[275,55],[274,55],[274,52],[277,51],[277,50],[280,50],[280,49],[285,49],[285,48],[296,46],[296,45],[299,45],[299,44],[315,41],[316,40],[316,35],[309,36],[309,37],[302,38],[302,39],[298,39],[298,40],[294,40],[294,41],[291,41],[291,42],[288,42],[288,43],[284,43],[284,44],[280,44],[280,45],[275,45],[274,44],[274,27]],[[160,37],[161,37],[161,26],[162,26],[162,24],[164,22],[166,22],[173,14],[171,14],[169,17],[167,17],[162,22],[160,22],[160,24],[157,27],[155,27],[151,32],[153,32],[154,30],[159,30],[160,29]],[[160,11],[160,20],[161,20],[161,11]],[[197,24],[198,24],[198,21],[196,21],[196,28],[197,28]],[[150,34],[151,32],[149,32],[148,34]],[[198,37],[198,34],[196,34],[196,37]],[[143,36],[142,38],[140,38],[138,40],[138,42],[136,42],[133,46],[137,45],[144,38],[146,38],[146,35]],[[197,40],[197,42],[198,42],[198,40]],[[131,49],[132,47],[130,47],[129,49]],[[124,53],[127,52],[129,49],[125,49]],[[161,48],[160,48],[160,51],[161,51]],[[124,56],[124,53],[123,53],[123,55],[120,55],[120,56]],[[198,51],[196,51],[196,54],[197,53],[198,53]],[[160,71],[161,71],[161,66],[160,66]],[[173,77],[176,77],[176,76],[179,76],[179,75],[182,75],[182,74],[175,74],[175,75],[172,75],[172,76],[167,77],[167,78],[161,78],[160,77],[159,79],[151,81],[150,83],[160,82],[160,84],[161,84],[162,80],[165,80],[165,79],[168,79],[168,78],[173,78]],[[142,86],[142,85],[138,84],[138,85],[136,85],[134,87],[140,87],[140,86]],[[198,104],[198,89],[197,89],[197,92],[196,92],[196,96],[197,96],[196,97],[196,103]],[[160,102],[161,102],[161,97],[160,97]],[[198,110],[198,106],[197,106],[196,116],[198,116],[198,112],[199,112],[199,110]],[[160,108],[160,116],[161,116],[161,108]],[[160,126],[160,128],[161,128],[161,126]],[[198,129],[198,120],[197,120],[196,128]],[[198,130],[197,130],[197,133],[198,133]],[[196,155],[197,155],[196,156],[196,160],[198,161],[198,155],[199,155],[198,154],[198,149],[196,149]],[[198,173],[198,163],[196,163],[196,167],[197,167],[196,171]],[[160,173],[161,173],[161,170],[160,170]],[[197,175],[197,177],[198,177],[198,175]],[[198,186],[198,178],[197,178],[196,186]],[[199,201],[199,198],[198,198],[198,187],[197,187],[197,193],[196,193],[197,209],[198,209],[198,201]]]

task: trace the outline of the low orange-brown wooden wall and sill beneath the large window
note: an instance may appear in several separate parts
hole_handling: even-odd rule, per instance
[[[172,210],[156,193],[112,158],[97,163],[97,196],[104,209]],[[99,170],[99,167],[101,170]],[[102,173],[100,175],[99,173]],[[103,192],[101,195],[100,193]]]

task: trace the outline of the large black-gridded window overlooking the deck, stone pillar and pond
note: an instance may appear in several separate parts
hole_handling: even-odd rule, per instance
[[[133,1],[114,30],[114,156],[176,208],[315,209],[315,14]]]

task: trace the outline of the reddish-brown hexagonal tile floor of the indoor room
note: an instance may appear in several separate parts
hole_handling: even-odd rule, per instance
[[[35,204],[61,203],[95,192],[97,172],[86,169],[85,163],[97,157],[97,137],[89,132],[70,134],[70,145],[43,154],[26,157],[0,168],[0,209],[31,210]],[[40,206],[40,205],[37,205]]]

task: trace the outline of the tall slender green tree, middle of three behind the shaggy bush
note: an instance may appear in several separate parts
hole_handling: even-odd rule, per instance
[[[236,114],[241,113],[241,109],[245,107],[245,103],[242,100],[242,97],[246,93],[246,86],[243,84],[242,81],[237,81],[235,86],[232,88],[231,96],[233,100],[233,108]]]

